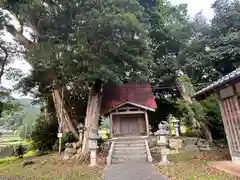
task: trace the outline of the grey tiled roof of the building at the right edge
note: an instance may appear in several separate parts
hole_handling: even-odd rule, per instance
[[[198,96],[201,95],[203,93],[207,93],[221,85],[223,85],[224,83],[227,83],[233,79],[236,79],[240,77],[240,68],[237,68],[235,71],[227,74],[226,76],[223,76],[222,78],[220,78],[219,80],[215,81],[214,83],[210,84],[209,86],[203,88],[202,90],[198,91],[194,96]]]

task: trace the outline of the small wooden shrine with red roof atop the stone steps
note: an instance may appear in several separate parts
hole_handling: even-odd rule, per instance
[[[101,114],[109,117],[111,137],[149,135],[148,111],[155,108],[149,83],[103,88]]]

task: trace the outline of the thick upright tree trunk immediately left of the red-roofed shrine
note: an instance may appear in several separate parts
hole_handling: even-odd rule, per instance
[[[82,146],[83,154],[86,154],[89,151],[88,142],[90,132],[92,130],[98,130],[101,100],[102,100],[102,82],[96,81],[96,83],[91,88],[88,96],[88,105],[85,117],[85,131]]]

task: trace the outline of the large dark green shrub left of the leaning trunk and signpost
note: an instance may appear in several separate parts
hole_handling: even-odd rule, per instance
[[[55,119],[46,121],[39,117],[32,131],[32,140],[36,148],[42,152],[52,150],[52,146],[57,140],[58,125]]]

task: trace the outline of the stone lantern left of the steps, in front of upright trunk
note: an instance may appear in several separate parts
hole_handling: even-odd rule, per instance
[[[90,166],[97,165],[97,141],[100,139],[97,130],[92,130],[89,135]]]

